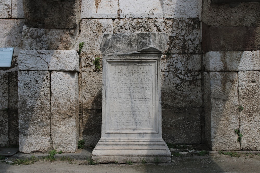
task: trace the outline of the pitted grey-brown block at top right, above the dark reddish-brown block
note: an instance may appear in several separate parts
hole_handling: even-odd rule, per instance
[[[260,26],[259,2],[230,4],[203,4],[202,21],[212,26]]]

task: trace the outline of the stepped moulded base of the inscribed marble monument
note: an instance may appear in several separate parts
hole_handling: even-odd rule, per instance
[[[98,163],[170,163],[171,152],[161,140],[102,140],[92,152]]]

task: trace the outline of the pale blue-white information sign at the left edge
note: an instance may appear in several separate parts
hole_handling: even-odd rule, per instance
[[[14,47],[0,48],[0,67],[11,67]]]

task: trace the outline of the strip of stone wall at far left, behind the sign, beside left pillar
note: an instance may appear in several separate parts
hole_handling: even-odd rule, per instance
[[[15,47],[11,67],[0,67],[0,143],[18,147],[18,54],[21,49],[24,14],[22,0],[0,2],[0,47]]]

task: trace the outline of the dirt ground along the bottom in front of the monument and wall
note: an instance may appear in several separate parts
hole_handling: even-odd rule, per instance
[[[219,153],[199,156],[196,153],[172,156],[172,163],[159,164],[86,164],[86,160],[45,161],[40,159],[32,165],[10,165],[0,163],[0,172],[260,172],[260,156],[242,154],[238,157],[219,155]]]

